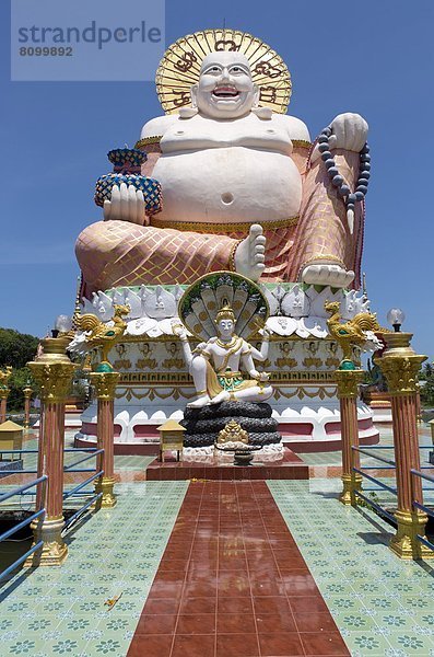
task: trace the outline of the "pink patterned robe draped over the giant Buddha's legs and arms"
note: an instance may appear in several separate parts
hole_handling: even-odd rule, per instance
[[[148,152],[142,173],[151,175],[160,147],[155,142],[142,148]],[[363,208],[357,204],[354,232],[350,234],[344,204],[331,185],[322,160],[312,164],[308,155],[308,145],[294,142],[292,157],[303,177],[300,217],[271,227],[265,221],[266,269],[261,280],[296,281],[306,263],[324,258],[353,269],[353,285],[359,287]],[[353,189],[359,154],[336,150],[335,158]],[[117,220],[92,223],[81,232],[75,245],[83,291],[90,296],[117,286],[191,284],[209,272],[234,270],[235,250],[247,233],[247,224],[215,227],[203,222],[186,227],[179,222],[176,228],[164,227],[159,215],[151,218],[150,226]]]

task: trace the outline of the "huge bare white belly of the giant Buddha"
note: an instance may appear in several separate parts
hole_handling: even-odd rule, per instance
[[[162,155],[159,220],[266,222],[295,217],[302,178],[290,157],[242,147]]]

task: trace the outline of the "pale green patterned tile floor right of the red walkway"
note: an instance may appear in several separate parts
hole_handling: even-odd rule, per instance
[[[339,504],[339,480],[268,486],[351,655],[434,656],[429,562],[399,561],[388,549],[389,525]]]

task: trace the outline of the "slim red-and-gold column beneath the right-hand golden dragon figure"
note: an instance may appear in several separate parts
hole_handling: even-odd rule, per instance
[[[359,383],[363,381],[364,372],[359,369],[339,369],[335,372],[338,385],[338,399],[341,414],[342,440],[342,493],[339,499],[345,505],[355,505],[354,491],[362,488],[362,475],[353,471],[360,469],[360,454],[353,451],[359,447],[357,399]]]

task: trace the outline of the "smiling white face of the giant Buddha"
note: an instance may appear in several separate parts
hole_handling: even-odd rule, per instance
[[[258,99],[247,58],[241,53],[208,55],[191,96],[204,116],[224,119],[247,115]]]

